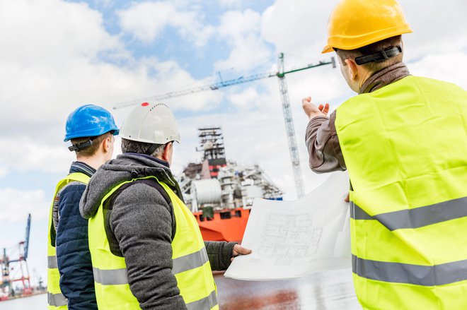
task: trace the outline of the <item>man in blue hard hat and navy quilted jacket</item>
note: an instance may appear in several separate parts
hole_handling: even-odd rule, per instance
[[[49,215],[48,309],[98,309],[88,246],[88,220],[79,201],[96,169],[110,160],[119,129],[103,107],[83,105],[67,119],[64,141],[76,153],[67,177],[58,182]]]

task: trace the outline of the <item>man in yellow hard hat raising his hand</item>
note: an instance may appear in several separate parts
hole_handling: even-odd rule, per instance
[[[325,52],[359,95],[302,105],[314,172],[350,175],[352,272],[364,309],[467,309],[467,92],[410,76],[395,0],[342,0]]]

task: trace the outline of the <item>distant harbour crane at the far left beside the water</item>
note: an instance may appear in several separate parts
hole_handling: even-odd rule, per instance
[[[14,296],[13,282],[22,282],[23,283],[23,294],[31,294],[32,289],[30,285],[29,269],[28,269],[28,249],[29,249],[29,235],[31,227],[31,215],[28,215],[28,222],[26,224],[26,236],[25,241],[18,243],[18,258],[10,259],[6,254],[6,249],[4,249],[4,256],[0,258],[1,271],[2,271],[2,283],[1,287],[8,287],[8,294]],[[19,272],[21,276],[19,278],[11,278],[11,271],[13,268],[11,264],[17,263]]]

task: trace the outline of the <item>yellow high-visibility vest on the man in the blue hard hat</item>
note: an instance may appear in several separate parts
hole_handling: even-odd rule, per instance
[[[57,196],[57,193],[60,191],[60,189],[62,189],[67,184],[74,181],[88,184],[89,179],[90,177],[81,172],[68,174],[67,177],[58,182],[57,187],[55,188],[54,198]],[[68,301],[60,290],[60,273],[57,266],[57,249],[55,248],[55,244],[52,244],[52,238],[50,236],[51,232],[54,232],[54,234],[57,233],[52,221],[53,207],[54,201],[52,199],[52,205],[50,206],[49,213],[49,232],[47,242],[47,309],[64,310],[68,309]]]

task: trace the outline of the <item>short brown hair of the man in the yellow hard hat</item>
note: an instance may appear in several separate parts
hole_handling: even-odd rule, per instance
[[[398,46],[402,47],[401,35],[396,35],[396,37],[388,37],[387,39],[374,42],[364,47],[359,47],[358,49],[335,49],[335,52],[338,54],[340,61],[342,61],[342,65],[346,66],[345,59],[355,59],[358,56],[374,54],[384,49]],[[403,53],[400,53],[397,56],[386,59],[385,61],[368,62],[367,64],[362,64],[360,66],[366,68],[371,73],[376,73],[388,66],[398,64],[400,61],[402,61],[402,56]]]

